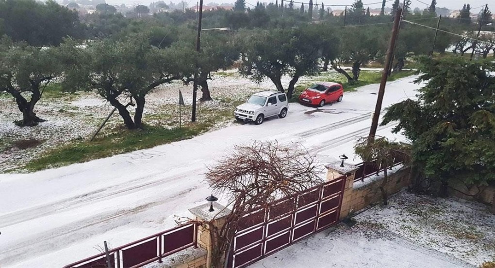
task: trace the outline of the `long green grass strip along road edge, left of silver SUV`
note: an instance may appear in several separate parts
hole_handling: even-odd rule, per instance
[[[145,129],[121,130],[105,137],[90,141],[74,141],[54,149],[44,156],[27,163],[24,168],[38,171],[51,167],[82,163],[118,153],[128,153],[157,145],[191,139],[208,130],[208,123],[188,123],[182,128],[165,129],[146,126]]]

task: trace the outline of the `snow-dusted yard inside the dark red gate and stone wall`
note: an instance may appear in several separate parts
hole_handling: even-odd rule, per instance
[[[495,261],[495,215],[455,198],[401,192],[254,265],[268,267],[469,268]]]

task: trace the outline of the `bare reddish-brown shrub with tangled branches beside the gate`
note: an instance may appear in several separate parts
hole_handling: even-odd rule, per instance
[[[277,142],[254,142],[236,150],[208,169],[206,180],[214,191],[229,195],[232,211],[220,230],[210,224],[214,252],[212,265],[221,267],[225,253],[237,230],[257,222],[269,203],[276,215],[295,209],[291,196],[323,182],[314,157],[298,144],[282,146]],[[251,214],[250,214],[251,213]],[[249,215],[248,217],[244,217]],[[244,217],[244,218],[243,218]],[[242,221],[240,221],[242,219]]]

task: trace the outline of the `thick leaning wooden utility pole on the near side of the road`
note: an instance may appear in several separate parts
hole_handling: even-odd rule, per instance
[[[375,140],[376,129],[378,128],[378,119],[380,118],[380,112],[382,111],[383,96],[385,95],[385,85],[387,84],[387,77],[389,75],[389,67],[392,65],[392,56],[394,55],[394,47],[396,45],[397,34],[399,32],[401,14],[402,9],[399,8],[394,19],[394,26],[392,27],[392,36],[390,37],[389,49],[385,59],[385,68],[383,69],[382,81],[380,82],[380,89],[378,90],[378,99],[376,101],[375,113],[373,114],[373,121],[371,122],[368,142]]]

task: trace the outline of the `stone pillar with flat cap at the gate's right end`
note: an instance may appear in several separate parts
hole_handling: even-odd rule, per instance
[[[354,176],[359,167],[356,167],[352,164],[344,163],[344,166],[341,167],[341,163],[339,161],[332,162],[328,165],[325,165],[327,168],[327,181],[333,181],[342,176],[345,176],[345,186],[344,186],[344,196],[342,197],[342,206],[339,220],[346,218],[352,209],[352,187],[354,186]]]

